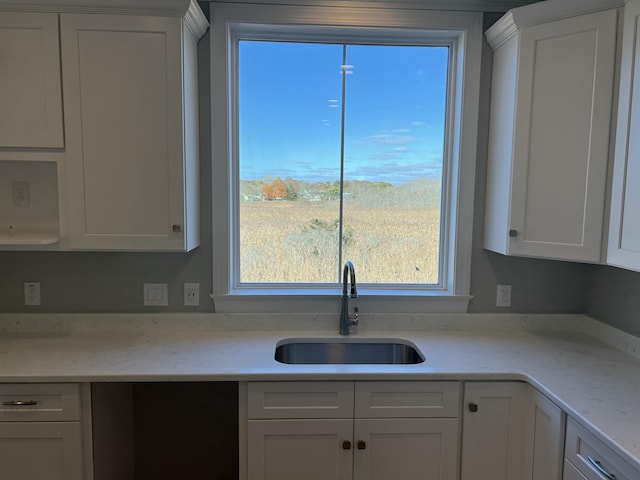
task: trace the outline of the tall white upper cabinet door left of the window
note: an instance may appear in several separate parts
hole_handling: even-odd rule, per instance
[[[185,249],[181,27],[61,15],[71,248]]]

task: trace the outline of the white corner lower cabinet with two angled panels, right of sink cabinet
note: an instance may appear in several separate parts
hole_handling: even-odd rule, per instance
[[[560,480],[565,418],[524,382],[466,382],[462,480]]]

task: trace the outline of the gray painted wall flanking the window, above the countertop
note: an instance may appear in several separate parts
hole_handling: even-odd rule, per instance
[[[487,15],[487,26],[497,18]],[[0,311],[2,312],[156,312],[213,310],[207,297],[211,291],[211,161],[208,88],[209,37],[200,42],[201,122],[201,246],[191,253],[85,253],[0,252]],[[471,312],[592,313],[615,323],[624,314],[623,325],[638,332],[640,322],[629,312],[610,308],[607,295],[591,298],[594,288],[615,278],[638,285],[635,274],[618,274],[588,265],[505,257],[482,249],[484,185],[486,178],[487,128],[491,75],[491,53],[483,51],[482,104],[478,139],[475,193],[474,245]],[[604,273],[603,273],[604,272]],[[632,280],[630,280],[632,279]],[[42,305],[23,305],[23,283],[41,284]],[[144,307],[142,284],[168,283],[168,307]],[[182,284],[199,282],[201,306],[182,305]],[[496,284],[513,286],[512,307],[496,308]],[[587,298],[589,297],[589,301]],[[614,297],[617,298],[617,297]],[[634,326],[635,324],[635,326]]]

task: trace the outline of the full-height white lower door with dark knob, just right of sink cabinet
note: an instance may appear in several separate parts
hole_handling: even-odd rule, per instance
[[[465,384],[462,480],[523,480],[527,385]]]

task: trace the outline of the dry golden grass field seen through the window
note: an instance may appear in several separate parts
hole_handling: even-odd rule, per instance
[[[338,201],[248,201],[240,207],[241,282],[335,283]],[[360,283],[437,283],[440,211],[345,207],[343,260]]]

